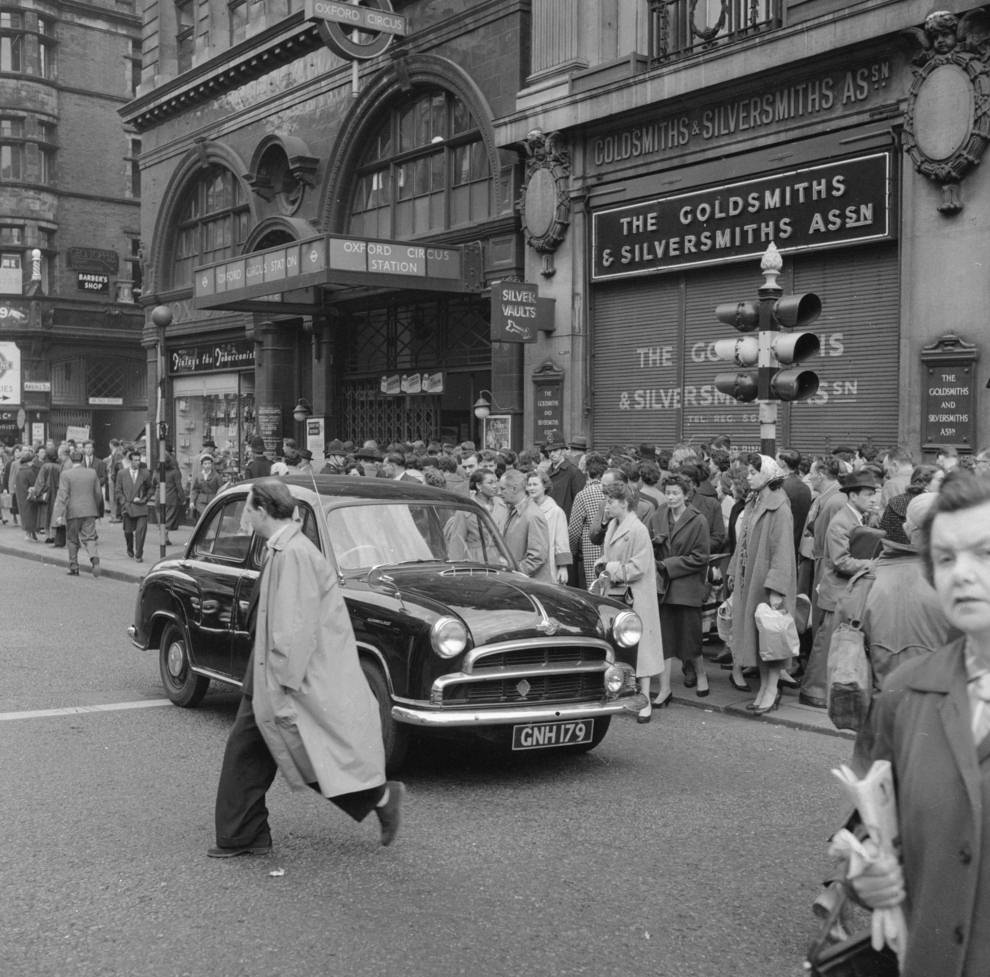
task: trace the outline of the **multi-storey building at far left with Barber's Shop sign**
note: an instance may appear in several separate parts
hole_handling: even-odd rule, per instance
[[[140,72],[130,2],[0,10],[0,440],[137,437]]]

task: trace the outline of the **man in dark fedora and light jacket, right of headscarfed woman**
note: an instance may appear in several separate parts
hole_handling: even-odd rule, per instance
[[[818,610],[821,614],[808,666],[801,683],[802,705],[824,709],[828,668],[828,647],[835,630],[835,609],[849,584],[850,577],[872,565],[872,560],[857,558],[850,552],[850,536],[863,525],[864,516],[874,507],[880,486],[870,471],[853,472],[839,483],[846,503],[835,510],[825,530],[821,582],[818,585]]]

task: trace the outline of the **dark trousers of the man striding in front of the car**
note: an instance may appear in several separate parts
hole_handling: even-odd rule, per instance
[[[126,518],[126,517],[125,517]],[[251,668],[249,664],[248,668]],[[265,794],[278,764],[254,721],[250,695],[242,695],[234,725],[227,739],[217,785],[216,829],[221,848],[270,845]],[[310,784],[319,793],[319,784]],[[385,794],[385,785],[340,794],[330,800],[355,821],[363,821]]]

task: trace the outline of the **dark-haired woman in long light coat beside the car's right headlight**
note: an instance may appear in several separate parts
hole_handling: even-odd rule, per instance
[[[609,519],[597,573],[608,574],[612,587],[632,592],[632,607],[643,622],[643,637],[636,655],[636,677],[647,705],[638,719],[648,723],[653,707],[649,704],[650,680],[664,671],[663,638],[657,604],[657,571],[649,530],[630,508],[633,490],[625,482],[612,482],[605,489],[605,515]],[[596,575],[597,575],[596,573]]]

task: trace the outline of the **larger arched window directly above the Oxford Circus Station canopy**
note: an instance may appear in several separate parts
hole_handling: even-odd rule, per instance
[[[368,139],[348,232],[403,240],[487,220],[488,155],[477,120],[437,89],[398,103]]]

